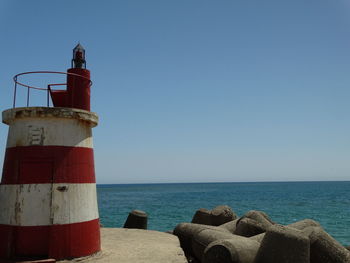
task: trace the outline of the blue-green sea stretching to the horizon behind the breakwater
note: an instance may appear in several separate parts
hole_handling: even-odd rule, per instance
[[[350,181],[100,184],[97,193],[104,227],[123,227],[138,209],[148,214],[148,229],[168,231],[191,222],[199,208],[228,205],[238,216],[260,210],[283,225],[314,219],[350,245]]]

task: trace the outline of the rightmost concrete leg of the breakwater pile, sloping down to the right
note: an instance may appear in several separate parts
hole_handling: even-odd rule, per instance
[[[350,262],[350,251],[321,227],[307,227],[303,232],[310,239],[310,263]]]

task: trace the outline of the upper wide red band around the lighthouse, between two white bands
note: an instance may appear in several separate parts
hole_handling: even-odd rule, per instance
[[[1,183],[95,183],[94,170],[92,148],[18,146],[6,149]]]

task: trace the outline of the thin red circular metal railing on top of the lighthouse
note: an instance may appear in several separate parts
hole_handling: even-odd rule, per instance
[[[41,90],[41,91],[46,91],[47,93],[47,107],[50,107],[50,92],[51,92],[51,86],[67,86],[67,83],[53,83],[53,84],[48,84],[47,88],[40,88],[40,87],[35,87],[35,86],[30,86],[24,83],[21,83],[18,81],[19,76],[23,75],[29,75],[29,74],[61,74],[61,75],[70,75],[70,76],[76,76],[79,78],[86,79],[90,82],[90,86],[92,85],[92,81],[82,75],[75,74],[75,73],[69,73],[69,72],[59,72],[59,71],[30,71],[30,72],[23,72],[15,75],[13,77],[13,81],[15,82],[15,88],[14,88],[14,95],[13,95],[13,108],[16,107],[16,96],[17,96],[17,86],[22,86],[27,88],[27,107],[29,107],[29,102],[30,102],[30,91],[31,89],[34,90]]]

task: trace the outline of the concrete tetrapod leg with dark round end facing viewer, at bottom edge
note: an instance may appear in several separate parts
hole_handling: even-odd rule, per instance
[[[260,243],[246,237],[217,240],[204,250],[202,263],[253,263]]]

